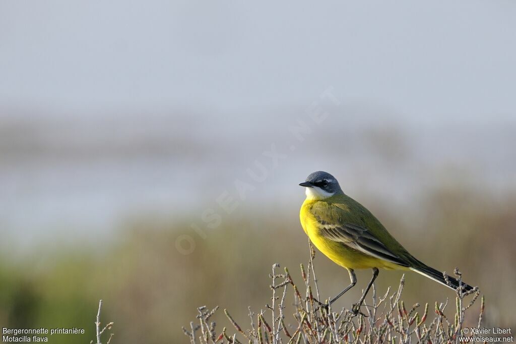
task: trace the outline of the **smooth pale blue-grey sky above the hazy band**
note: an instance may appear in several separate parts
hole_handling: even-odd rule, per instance
[[[514,18],[512,1],[2,1],[0,108],[267,114],[333,86],[398,116],[509,119]]]

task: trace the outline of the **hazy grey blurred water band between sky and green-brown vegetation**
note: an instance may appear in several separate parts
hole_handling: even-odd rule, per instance
[[[216,206],[223,191],[237,198],[236,179],[254,189],[239,211],[269,201],[297,216],[303,198],[297,183],[317,169],[336,175],[350,195],[370,194],[407,207],[418,192],[447,178],[493,192],[515,189],[510,121],[406,120],[386,126],[367,109],[327,109],[328,119],[312,124],[303,142],[288,129],[296,119],[309,120],[302,112],[225,120],[173,114],[4,118],[2,234],[20,248],[54,234],[72,242],[109,238],[134,214],[200,214]],[[271,145],[282,154],[277,167],[263,155]],[[267,168],[264,182],[246,172],[259,172],[255,160]]]

